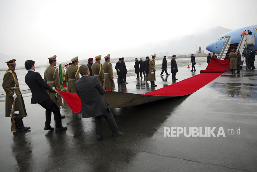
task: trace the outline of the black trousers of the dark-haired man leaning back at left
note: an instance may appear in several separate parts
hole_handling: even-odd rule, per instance
[[[55,127],[61,127],[61,113],[59,110],[59,107],[52,101],[50,98],[46,101],[43,101],[42,103],[38,103],[43,108],[46,109],[46,126],[49,126],[51,123],[51,115],[52,112],[54,113],[54,119],[55,119]]]

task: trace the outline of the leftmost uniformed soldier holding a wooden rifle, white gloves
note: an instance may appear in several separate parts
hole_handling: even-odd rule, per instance
[[[5,116],[10,117],[12,105],[15,100],[15,111],[19,111],[18,114],[15,114],[14,120],[16,121],[16,128],[18,131],[26,131],[30,129],[30,127],[24,127],[22,118],[27,116],[27,112],[25,109],[23,97],[20,92],[19,82],[17,75],[15,73],[15,59],[12,59],[7,63],[8,70],[5,72],[3,77],[2,87],[6,92],[5,96]]]

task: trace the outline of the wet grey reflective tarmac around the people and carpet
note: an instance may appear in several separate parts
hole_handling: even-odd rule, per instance
[[[196,58],[196,63],[196,72],[187,68],[188,61],[178,64],[176,82],[207,66],[206,58]],[[116,91],[143,94],[172,84],[171,75],[159,76],[161,65],[156,66],[157,87],[136,80],[131,70],[129,84],[116,86]],[[5,102],[0,102],[1,171],[257,171],[257,72],[246,71],[245,65],[240,75],[226,72],[189,96],[112,109],[124,135],[112,138],[103,121],[101,141],[94,118],[80,120],[81,114],[72,113],[65,103],[61,114],[68,130],[45,131],[44,109],[30,104],[29,91],[23,96],[28,113],[24,125],[31,127],[27,132],[11,132]],[[187,134],[189,127],[202,127],[203,135],[205,127],[216,127],[215,136],[222,127],[224,135],[168,137],[169,132],[164,137],[164,127],[186,127]]]

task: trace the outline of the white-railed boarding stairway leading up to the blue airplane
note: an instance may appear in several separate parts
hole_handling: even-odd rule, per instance
[[[256,34],[254,35],[242,34],[239,43],[235,43],[235,44],[231,44],[231,37],[226,36],[224,45],[221,49],[221,52],[218,58],[220,60],[228,59],[229,53],[232,51],[232,49],[235,49],[236,51],[239,50],[239,52],[242,54],[243,50],[247,47],[247,45],[255,45],[255,36]]]

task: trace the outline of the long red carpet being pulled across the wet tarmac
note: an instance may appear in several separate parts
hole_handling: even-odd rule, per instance
[[[212,58],[206,70],[201,70],[200,74],[158,90],[148,92],[143,95],[127,92],[107,91],[104,95],[102,95],[102,97],[108,102],[108,104],[110,104],[111,108],[119,108],[140,105],[169,97],[185,96],[192,94],[206,84],[215,80],[228,69],[228,59],[219,60],[217,58]],[[77,94],[63,91],[58,92],[61,94],[64,101],[68,104],[73,112],[79,113],[81,111],[81,99]]]

